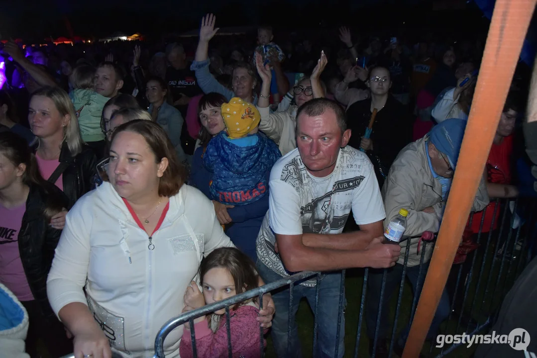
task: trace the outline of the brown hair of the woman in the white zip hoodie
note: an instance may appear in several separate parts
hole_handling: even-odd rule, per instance
[[[173,196],[179,193],[179,189],[186,180],[186,170],[179,163],[175,148],[173,148],[173,144],[171,144],[164,129],[155,122],[136,119],[116,128],[112,134],[111,143],[122,131],[140,134],[155,155],[156,163],[160,163],[162,158],[168,158],[168,167],[158,183],[158,195]]]

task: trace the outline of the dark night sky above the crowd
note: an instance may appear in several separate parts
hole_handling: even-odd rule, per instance
[[[423,14],[446,2],[466,6],[465,0],[0,0],[0,36],[69,36],[67,23],[81,36],[182,32],[197,28],[209,11],[219,16],[219,26],[313,27],[322,21],[323,26],[386,27],[419,14],[420,21],[434,23]]]

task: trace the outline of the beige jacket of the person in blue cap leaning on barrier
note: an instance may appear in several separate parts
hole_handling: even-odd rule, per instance
[[[391,165],[386,182],[382,187],[382,199],[386,209],[384,229],[403,208],[408,210],[407,229],[404,236],[418,236],[424,231],[438,232],[440,229],[445,202],[442,201],[442,186],[438,180],[434,179],[429,168],[429,160],[425,150],[428,138],[425,136],[407,145]],[[488,203],[487,187],[482,180],[471,210],[483,210]],[[429,214],[422,211],[427,207],[433,207],[436,213]],[[407,241],[401,243],[402,249],[401,256],[397,261],[398,264],[404,264]],[[418,254],[418,242],[419,238],[410,239],[409,267],[419,265],[423,243],[419,246]],[[426,246],[424,262],[430,260],[433,246]]]

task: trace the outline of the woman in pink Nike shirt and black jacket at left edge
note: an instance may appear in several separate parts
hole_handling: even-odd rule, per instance
[[[31,357],[39,356],[39,339],[53,357],[72,352],[46,287],[61,235],[50,220],[68,208],[66,195],[41,177],[26,141],[0,133],[0,282],[28,311],[26,352]]]

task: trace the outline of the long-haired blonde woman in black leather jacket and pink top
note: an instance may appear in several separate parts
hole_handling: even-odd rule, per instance
[[[62,189],[72,206],[93,189],[97,157],[82,142],[75,108],[67,92],[60,87],[43,87],[33,93],[28,122],[38,137],[35,157],[41,176]],[[55,228],[63,228],[64,214],[63,218],[54,218]]]

